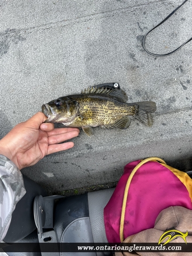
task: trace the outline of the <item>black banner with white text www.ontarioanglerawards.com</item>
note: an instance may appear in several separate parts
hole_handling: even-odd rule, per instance
[[[5,252],[192,252],[192,243],[0,243]]]

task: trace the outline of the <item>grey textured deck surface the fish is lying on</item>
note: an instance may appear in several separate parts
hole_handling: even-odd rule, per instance
[[[149,156],[190,169],[192,43],[165,58],[142,48],[147,31],[181,3],[0,1],[1,137],[43,103],[100,83],[118,82],[129,102],[157,103],[153,127],[133,119],[124,131],[81,131],[73,149],[22,173],[61,191],[117,181],[126,163]],[[191,11],[188,1],[148,36],[148,49],[169,52],[190,38]]]

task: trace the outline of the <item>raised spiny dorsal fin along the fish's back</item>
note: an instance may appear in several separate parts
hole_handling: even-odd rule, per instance
[[[111,96],[114,96],[117,98],[117,100],[121,102],[127,102],[127,95],[126,93],[121,89],[111,89],[111,88],[105,88],[105,87],[88,87],[87,89],[84,89],[81,91],[82,94],[86,93],[102,93],[102,94],[110,94]]]

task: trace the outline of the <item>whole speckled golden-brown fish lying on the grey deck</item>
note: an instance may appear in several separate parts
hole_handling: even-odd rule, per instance
[[[122,89],[93,86],[42,105],[42,112],[47,116],[45,123],[81,127],[89,137],[93,134],[92,127],[127,129],[131,123],[129,116],[144,125],[153,125],[154,101],[127,103],[127,100]]]

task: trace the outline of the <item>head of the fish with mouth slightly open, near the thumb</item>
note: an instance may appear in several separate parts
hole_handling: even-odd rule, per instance
[[[61,97],[42,105],[42,112],[47,116],[44,123],[68,124],[78,115],[78,103],[68,97]]]

